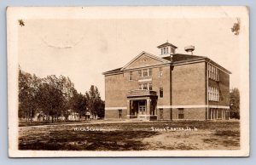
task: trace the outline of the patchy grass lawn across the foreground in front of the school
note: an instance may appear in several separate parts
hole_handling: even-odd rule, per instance
[[[170,131],[170,128],[196,128]],[[168,128],[168,130],[167,130]],[[239,122],[102,122],[19,128],[20,150],[238,150]],[[98,130],[96,130],[98,129]],[[173,129],[172,129],[173,130]]]

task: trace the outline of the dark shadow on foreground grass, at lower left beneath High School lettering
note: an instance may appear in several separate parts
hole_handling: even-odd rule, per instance
[[[20,138],[19,150],[42,151],[140,151],[145,150],[141,139],[151,137],[149,131],[52,132],[49,137]]]

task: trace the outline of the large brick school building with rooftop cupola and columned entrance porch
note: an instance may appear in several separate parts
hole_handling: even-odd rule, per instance
[[[228,119],[230,74],[204,56],[176,54],[158,46],[160,55],[142,52],[127,65],[103,73],[105,118],[145,120]]]

